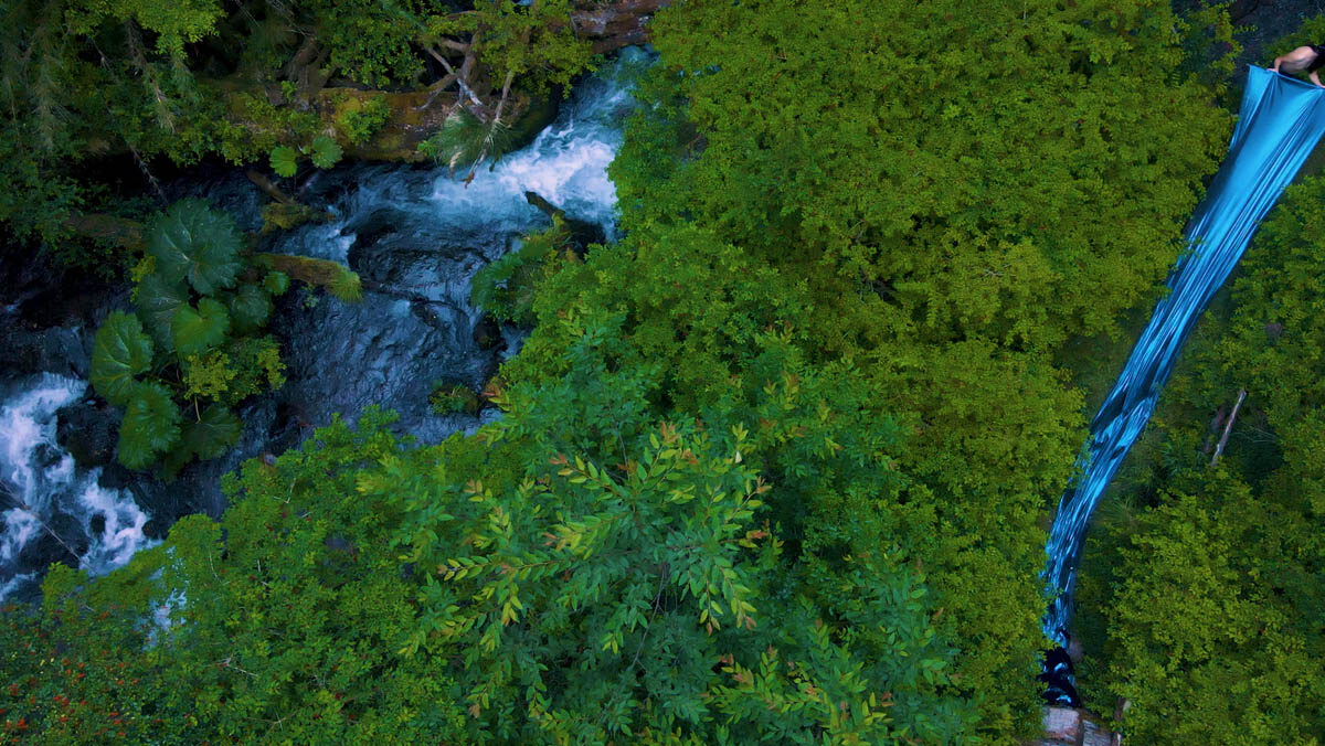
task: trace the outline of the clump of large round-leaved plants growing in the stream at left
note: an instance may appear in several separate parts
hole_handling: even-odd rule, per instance
[[[93,348],[93,387],[125,408],[121,464],[163,461],[174,473],[215,458],[238,440],[232,407],[284,383],[264,330],[272,289],[284,292],[289,278],[245,272],[240,248],[235,221],[199,200],[175,203],[152,224],[135,272],[136,314],[113,311]]]

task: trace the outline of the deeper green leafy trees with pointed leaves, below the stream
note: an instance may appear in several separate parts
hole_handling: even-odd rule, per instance
[[[115,725],[160,742],[969,742],[925,572],[863,541],[910,513],[874,492],[905,485],[898,433],[824,416],[864,392],[774,356],[783,384],[755,403],[783,415],[771,429],[653,420],[647,372],[612,370],[620,319],[580,311],[564,376],[502,391],[506,417],[474,436],[403,448],[370,411],[246,464],[221,523],[180,521],[103,579],[53,572],[44,619],[70,660],[102,623],[142,659]],[[761,476],[776,444],[804,449],[800,486]],[[851,526],[802,514],[831,485]],[[5,660],[24,692],[58,681]],[[16,708],[38,733],[62,712]]]

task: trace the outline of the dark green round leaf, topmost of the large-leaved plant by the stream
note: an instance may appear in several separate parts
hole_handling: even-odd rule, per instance
[[[172,204],[156,220],[147,252],[166,280],[188,280],[204,295],[235,285],[241,269],[235,221],[196,199]]]

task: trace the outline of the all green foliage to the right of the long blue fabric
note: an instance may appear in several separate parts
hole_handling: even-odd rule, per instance
[[[1165,392],[1149,490],[1086,549],[1101,705],[1142,742],[1325,739],[1325,179],[1292,187]],[[1239,388],[1248,398],[1210,465]]]

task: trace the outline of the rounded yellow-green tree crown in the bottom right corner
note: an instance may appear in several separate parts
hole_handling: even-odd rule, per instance
[[[1102,610],[1132,738],[1308,743],[1322,737],[1320,539],[1312,517],[1227,476],[1166,493],[1124,539]],[[1104,697],[1100,697],[1101,700]]]

